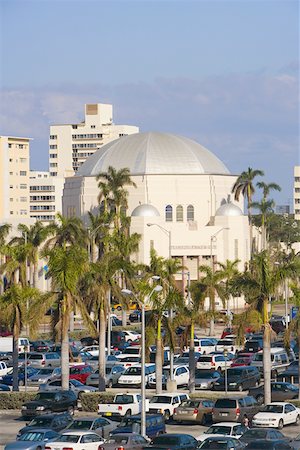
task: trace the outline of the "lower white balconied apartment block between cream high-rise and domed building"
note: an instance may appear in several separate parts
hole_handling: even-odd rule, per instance
[[[61,212],[64,178],[32,170],[29,185],[30,217],[41,222],[55,220],[55,214]]]

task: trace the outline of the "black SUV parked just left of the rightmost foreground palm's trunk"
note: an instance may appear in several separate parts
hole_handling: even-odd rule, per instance
[[[260,383],[260,372],[255,366],[238,366],[227,370],[228,391],[243,391]],[[213,389],[225,390],[225,376],[215,382]]]

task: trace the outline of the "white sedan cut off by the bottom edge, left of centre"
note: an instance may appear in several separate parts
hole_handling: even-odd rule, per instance
[[[67,431],[52,442],[47,442],[45,450],[98,450],[103,438],[91,431]]]

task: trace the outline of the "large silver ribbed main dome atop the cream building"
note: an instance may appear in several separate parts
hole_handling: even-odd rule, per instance
[[[90,177],[127,167],[131,175],[228,175],[227,167],[202,145],[183,136],[137,133],[109,142],[90,156],[77,175]]]

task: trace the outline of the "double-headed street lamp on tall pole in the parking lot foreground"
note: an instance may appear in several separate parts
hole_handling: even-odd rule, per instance
[[[122,289],[123,295],[133,296],[137,303],[141,305],[141,322],[142,322],[142,336],[141,336],[141,397],[142,397],[142,405],[141,405],[141,435],[146,437],[146,383],[145,383],[145,364],[146,364],[146,337],[145,337],[145,300],[150,300],[152,294],[154,292],[161,292],[163,287],[161,285],[156,285],[150,292],[150,294],[142,301],[132,292],[130,289]]]

